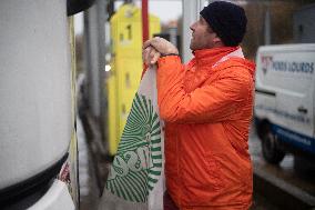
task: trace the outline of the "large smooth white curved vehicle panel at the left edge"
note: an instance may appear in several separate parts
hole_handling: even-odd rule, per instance
[[[0,189],[55,163],[71,139],[64,0],[0,1]]]

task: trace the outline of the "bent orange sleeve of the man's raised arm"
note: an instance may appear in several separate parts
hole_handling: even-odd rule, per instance
[[[167,122],[214,123],[228,120],[251,93],[252,78],[246,73],[242,76],[240,71],[244,69],[241,67],[187,93],[183,88],[181,59],[163,57],[158,62],[158,102],[160,116]]]

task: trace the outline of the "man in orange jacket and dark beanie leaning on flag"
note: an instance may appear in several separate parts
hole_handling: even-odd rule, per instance
[[[254,64],[238,47],[247,19],[243,8],[223,1],[200,14],[191,26],[194,58],[187,64],[162,38],[144,43],[145,62],[158,62],[165,121],[165,209],[248,209]]]

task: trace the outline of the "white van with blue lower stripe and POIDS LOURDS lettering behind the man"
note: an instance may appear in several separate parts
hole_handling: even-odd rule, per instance
[[[266,161],[286,151],[314,158],[314,100],[315,43],[260,47],[254,111]]]

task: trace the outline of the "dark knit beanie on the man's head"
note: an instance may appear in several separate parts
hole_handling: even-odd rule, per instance
[[[247,24],[243,8],[225,1],[215,1],[203,8],[200,14],[225,46],[238,46],[242,42]]]

